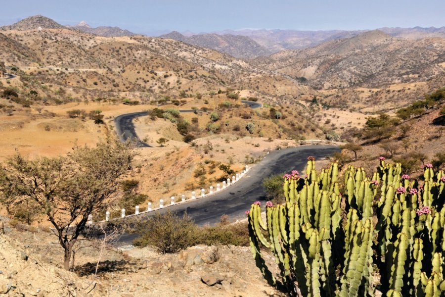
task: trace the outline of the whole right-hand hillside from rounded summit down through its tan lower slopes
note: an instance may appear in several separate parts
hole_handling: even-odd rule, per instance
[[[361,109],[371,101],[377,103],[374,106],[391,109],[400,104],[397,100],[413,100],[445,84],[444,50],[442,38],[408,40],[374,30],[257,58],[255,65],[304,77],[306,84],[330,97],[334,106],[355,104]]]

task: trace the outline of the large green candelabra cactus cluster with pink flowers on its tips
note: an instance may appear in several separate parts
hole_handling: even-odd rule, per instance
[[[284,175],[285,202],[246,211],[251,250],[268,283],[290,296],[444,296],[445,174],[425,165],[424,182],[380,158],[368,177],[337,163],[305,177]],[[274,275],[262,257],[269,248]],[[380,276],[380,282],[375,281]]]

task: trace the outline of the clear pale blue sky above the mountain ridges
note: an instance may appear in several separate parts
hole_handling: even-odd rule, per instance
[[[0,25],[42,14],[134,33],[445,26],[445,0],[4,0]]]

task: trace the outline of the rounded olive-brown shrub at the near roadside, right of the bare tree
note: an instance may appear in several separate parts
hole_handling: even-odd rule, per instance
[[[138,224],[134,241],[138,247],[155,247],[161,253],[175,253],[196,244],[196,225],[185,213],[179,217],[170,210],[155,214],[148,222]]]

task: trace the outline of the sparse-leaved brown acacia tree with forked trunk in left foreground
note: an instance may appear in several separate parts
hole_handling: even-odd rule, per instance
[[[0,168],[0,202],[9,212],[37,207],[54,227],[64,249],[64,268],[70,270],[73,247],[88,216],[120,196],[120,178],[135,155],[132,147],[109,141],[95,148],[75,147],[66,157],[30,160],[17,154]]]

